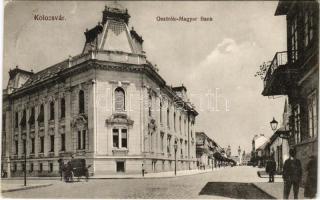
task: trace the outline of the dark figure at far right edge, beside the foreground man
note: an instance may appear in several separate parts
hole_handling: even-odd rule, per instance
[[[317,194],[317,177],[318,177],[318,165],[317,157],[310,156],[310,161],[307,164],[307,180],[306,187],[304,189],[304,196],[310,199],[316,197]]]

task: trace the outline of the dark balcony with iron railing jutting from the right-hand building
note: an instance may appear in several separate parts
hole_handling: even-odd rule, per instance
[[[263,96],[287,95],[292,87],[297,70],[295,63],[288,62],[288,52],[277,52],[266,69]]]

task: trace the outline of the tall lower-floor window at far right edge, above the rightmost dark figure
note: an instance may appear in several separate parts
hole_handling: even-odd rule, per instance
[[[316,93],[308,97],[308,129],[309,137],[316,137],[318,134],[318,106]]]

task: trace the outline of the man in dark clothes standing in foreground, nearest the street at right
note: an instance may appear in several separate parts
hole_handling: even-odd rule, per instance
[[[296,150],[289,150],[290,157],[284,162],[282,178],[284,181],[283,198],[288,199],[293,186],[294,199],[298,199],[299,185],[302,178],[300,160],[296,159]]]

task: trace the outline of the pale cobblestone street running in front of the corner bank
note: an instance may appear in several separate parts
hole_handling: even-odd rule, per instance
[[[257,168],[221,168],[212,172],[174,178],[93,179],[4,193],[9,198],[271,198],[256,188]],[[40,180],[45,181],[45,180]],[[46,180],[46,182],[50,182]]]

